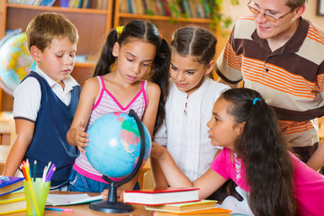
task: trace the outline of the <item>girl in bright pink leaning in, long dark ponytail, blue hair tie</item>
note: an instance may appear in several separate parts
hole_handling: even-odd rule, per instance
[[[203,199],[230,178],[247,193],[244,213],[322,214],[323,175],[288,151],[275,112],[257,91],[235,88],[221,94],[207,125],[211,145],[223,149],[193,183],[175,166],[166,148],[153,144],[151,157],[157,159],[170,186],[198,187]]]

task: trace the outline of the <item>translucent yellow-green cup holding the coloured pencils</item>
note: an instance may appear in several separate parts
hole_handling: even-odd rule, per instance
[[[27,204],[27,216],[44,215],[45,202],[49,194],[50,182],[42,182],[41,178],[36,181],[23,180],[24,193]]]

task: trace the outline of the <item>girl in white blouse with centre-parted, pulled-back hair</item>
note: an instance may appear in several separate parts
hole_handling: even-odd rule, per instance
[[[173,33],[166,119],[155,141],[166,147],[176,165],[191,181],[207,171],[218,148],[211,146],[207,122],[212,104],[229,88],[212,80],[217,40],[202,27],[188,26]],[[156,187],[167,186],[163,173],[151,160]]]

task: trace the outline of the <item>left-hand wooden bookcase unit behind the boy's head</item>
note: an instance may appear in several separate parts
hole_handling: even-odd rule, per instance
[[[56,0],[53,6],[33,6],[24,4],[8,4],[6,0],[0,1],[0,39],[4,37],[6,30],[22,28],[25,31],[31,19],[44,12],[63,14],[76,25],[79,33],[77,55],[86,55],[85,62],[76,62],[72,76],[81,85],[87,76],[93,71],[95,58],[102,47],[104,36],[112,28],[113,0],[107,1],[107,9],[96,9],[96,1],[91,1],[89,8],[60,7],[60,0]],[[12,111],[12,95],[0,90],[0,111]]]

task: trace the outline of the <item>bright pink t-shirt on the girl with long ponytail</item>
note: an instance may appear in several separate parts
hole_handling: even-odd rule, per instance
[[[306,166],[292,153],[293,180],[298,215],[322,215],[324,206],[324,176]],[[230,159],[229,148],[223,148],[218,157],[211,163],[211,169],[225,179],[232,179],[243,190],[250,192],[246,183],[245,168],[240,159]]]

